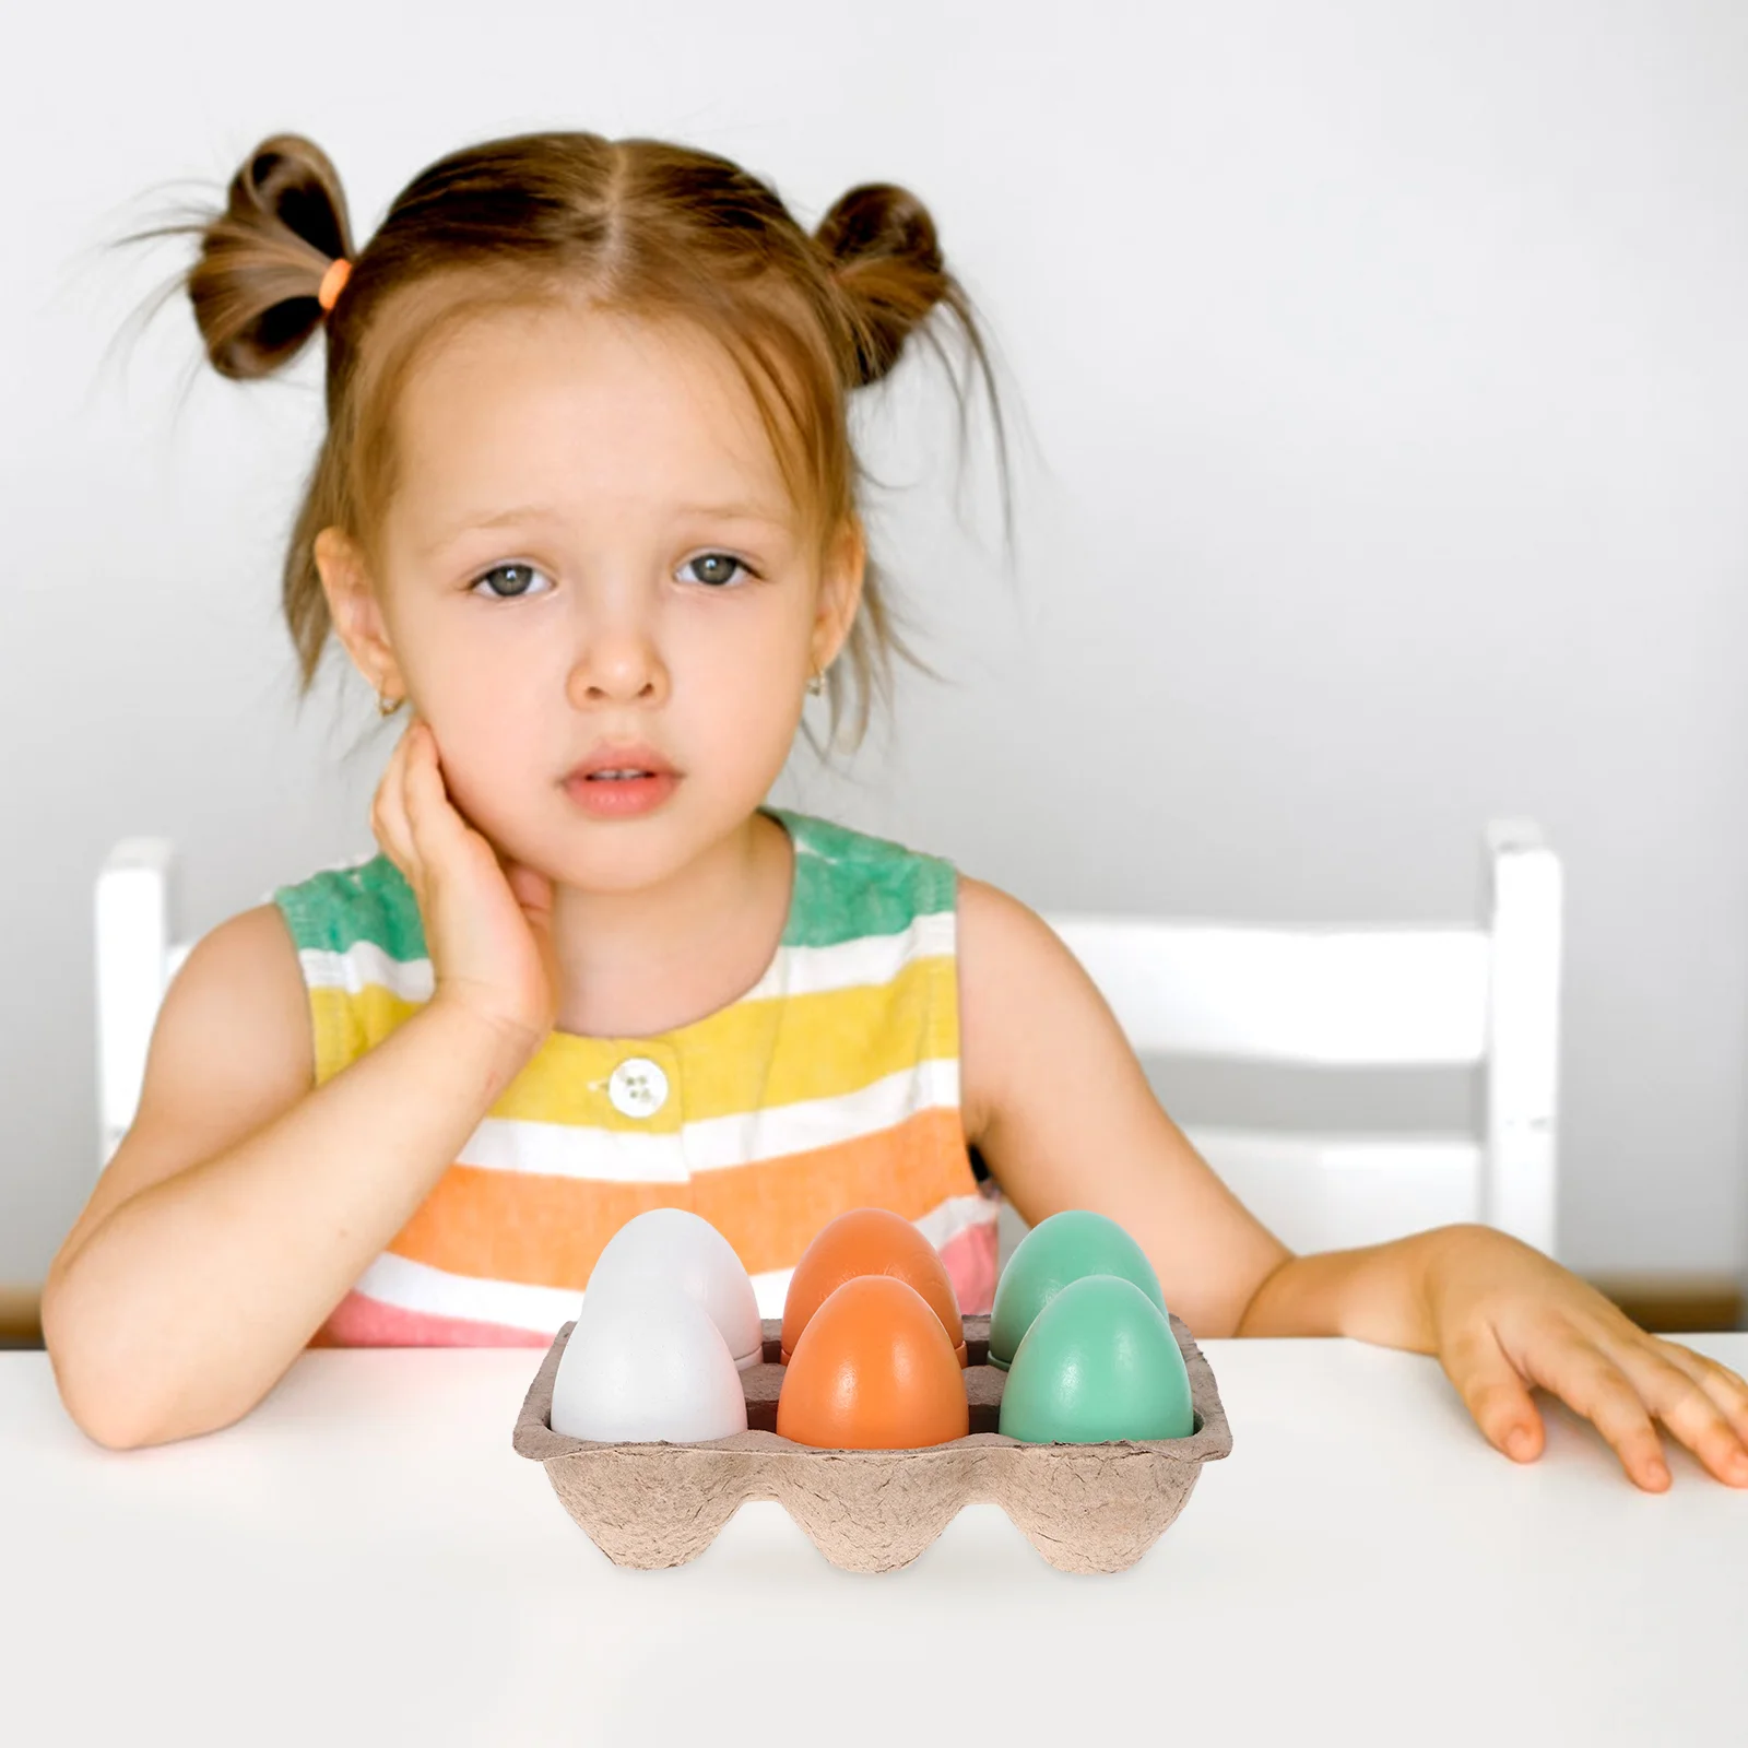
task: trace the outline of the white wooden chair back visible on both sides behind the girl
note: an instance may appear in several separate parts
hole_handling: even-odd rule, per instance
[[[1486,865],[1486,918],[1474,926],[1045,919],[1141,1056],[1482,1070],[1479,1136],[1187,1129],[1294,1250],[1481,1220],[1554,1255],[1561,869],[1523,820],[1488,827]],[[119,843],[98,874],[100,1164],[133,1122],[152,1024],[189,953],[171,935],[171,877],[161,837]],[[1012,1210],[1007,1220],[1012,1234]]]

